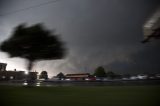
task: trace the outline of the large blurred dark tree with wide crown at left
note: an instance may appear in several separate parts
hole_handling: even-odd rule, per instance
[[[2,42],[0,49],[8,52],[10,57],[27,59],[28,71],[36,61],[62,59],[65,55],[64,43],[42,24],[17,26],[11,37]]]

